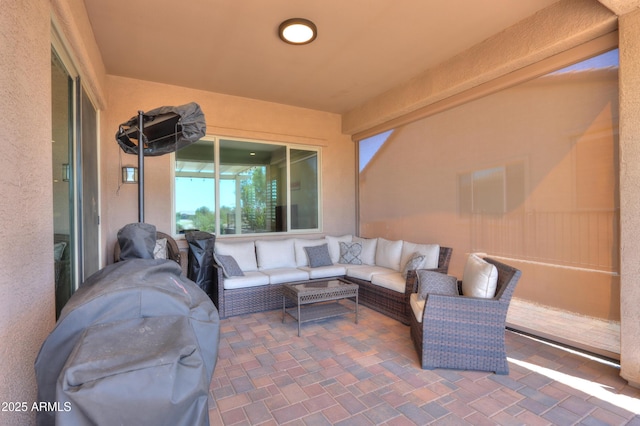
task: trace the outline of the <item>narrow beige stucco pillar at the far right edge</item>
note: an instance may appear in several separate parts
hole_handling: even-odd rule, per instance
[[[620,18],[621,376],[640,387],[640,10]]]

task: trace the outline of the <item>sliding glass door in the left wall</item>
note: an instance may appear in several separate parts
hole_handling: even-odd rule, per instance
[[[97,118],[79,77],[51,51],[56,314],[100,268]]]

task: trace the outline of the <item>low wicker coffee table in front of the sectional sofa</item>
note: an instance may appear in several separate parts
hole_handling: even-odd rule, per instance
[[[287,309],[287,299],[296,306]],[[354,299],[354,309],[349,309],[339,303],[341,299]],[[355,312],[355,322],[358,323],[358,285],[341,279],[327,281],[313,281],[301,284],[285,284],[282,287],[282,322],[287,314],[298,321],[298,336],[300,324],[323,318],[335,317]]]

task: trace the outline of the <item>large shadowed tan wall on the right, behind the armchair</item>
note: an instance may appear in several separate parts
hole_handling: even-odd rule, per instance
[[[452,247],[458,277],[470,252],[507,257],[516,296],[619,320],[617,81],[547,76],[396,129],[361,173],[362,234]],[[460,176],[495,167],[523,171],[505,213],[465,212]]]

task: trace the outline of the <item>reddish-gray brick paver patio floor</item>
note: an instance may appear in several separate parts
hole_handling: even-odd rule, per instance
[[[421,370],[409,328],[366,307],[359,324],[348,315],[305,323],[302,337],[281,318],[221,322],[212,425],[640,425],[640,390],[615,366],[515,333],[510,374],[500,376]],[[592,384],[600,393],[585,390]]]

